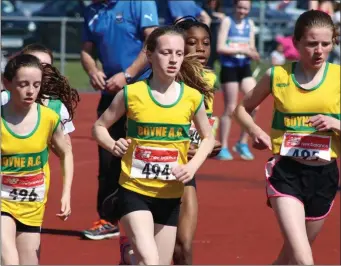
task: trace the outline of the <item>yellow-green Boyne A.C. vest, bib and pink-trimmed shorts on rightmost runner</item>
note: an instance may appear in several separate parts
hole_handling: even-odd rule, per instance
[[[340,120],[340,66],[326,63],[323,79],[310,90],[295,79],[295,63],[276,66],[271,72],[275,100],[271,140],[275,155],[266,164],[267,196],[291,196],[305,207],[307,220],[324,218],[333,204],[339,182],[336,159],[340,136],[317,132],[306,122],[322,114]],[[332,161],[311,166],[293,160]]]

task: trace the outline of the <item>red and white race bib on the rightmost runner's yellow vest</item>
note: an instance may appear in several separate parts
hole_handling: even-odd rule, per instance
[[[330,136],[285,133],[280,154],[304,160],[330,161],[330,143]]]

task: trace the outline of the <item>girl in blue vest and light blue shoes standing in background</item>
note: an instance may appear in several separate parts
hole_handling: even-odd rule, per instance
[[[217,156],[221,160],[233,159],[228,149],[231,115],[237,105],[239,88],[246,94],[256,85],[251,73],[251,60],[259,60],[255,47],[254,23],[247,17],[251,1],[235,0],[234,5],[233,16],[226,17],[221,22],[217,40],[217,53],[220,54],[221,63],[220,83],[224,95],[224,113],[220,120],[222,150]],[[242,159],[253,160],[247,140],[247,134],[242,131],[233,150],[239,153]]]

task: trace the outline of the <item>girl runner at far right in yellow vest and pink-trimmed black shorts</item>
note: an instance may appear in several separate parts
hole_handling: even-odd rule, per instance
[[[298,62],[267,71],[236,108],[254,147],[271,149],[266,192],[284,244],[275,264],[314,264],[311,245],[331,211],[339,182],[340,66],[327,62],[337,31],[331,17],[311,10],[296,21]],[[270,137],[250,113],[272,94]]]

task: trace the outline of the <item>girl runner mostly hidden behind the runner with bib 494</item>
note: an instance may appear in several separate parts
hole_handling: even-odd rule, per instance
[[[195,56],[203,67],[206,66],[211,52],[211,32],[206,24],[198,22],[193,17],[184,17],[175,22],[176,26],[185,31],[185,55]],[[205,69],[203,77],[212,91],[217,80],[213,71]],[[212,116],[213,97],[207,100],[206,114],[211,126],[217,128],[218,119]],[[200,135],[192,124],[190,128],[191,146],[188,157],[192,158],[200,144]],[[220,143],[216,141],[214,151],[210,157],[217,155],[220,150]],[[175,265],[192,264],[192,242],[196,231],[198,216],[198,203],[196,196],[196,182],[193,178],[185,184],[184,194],[181,198],[180,216],[177,230],[176,245],[173,255]],[[130,244],[125,236],[120,237],[121,264],[131,264]]]

